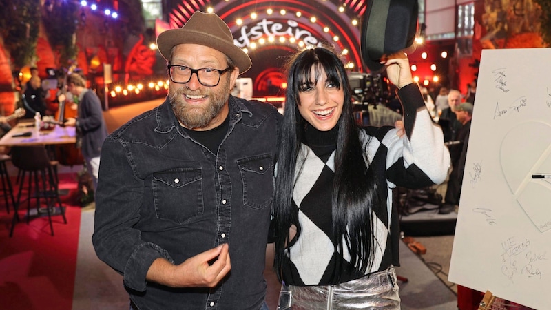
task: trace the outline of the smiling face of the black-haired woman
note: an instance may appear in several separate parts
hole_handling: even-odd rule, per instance
[[[318,71],[318,81],[315,75]],[[333,129],[342,114],[344,91],[342,87],[327,81],[327,74],[321,66],[313,65],[310,79],[300,85],[298,111],[310,125],[320,131]]]

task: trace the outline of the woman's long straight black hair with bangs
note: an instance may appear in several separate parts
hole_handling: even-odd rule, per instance
[[[382,207],[377,193],[377,179],[372,169],[368,169],[365,141],[360,141],[360,129],[355,124],[351,88],[346,69],[339,56],[328,48],[312,48],[298,52],[287,63],[287,91],[285,94],[284,121],[281,127],[278,173],[275,180],[275,261],[274,268],[281,279],[281,266],[289,258],[286,247],[291,241],[289,227],[298,226],[296,210],[293,210],[293,188],[295,170],[301,169],[298,163],[300,145],[304,129],[309,123],[298,110],[299,93],[303,85],[312,85],[320,79],[323,69],[327,80],[342,88],[344,105],[337,122],[337,149],[335,152],[335,179],[332,192],[332,223],[335,254],[341,255],[348,249],[351,265],[362,274],[371,269],[375,253],[373,238],[373,209]],[[315,70],[315,81],[311,71]],[[299,172],[300,173],[300,172]],[[294,214],[294,215],[293,215]],[[300,227],[298,227],[300,228]],[[300,229],[298,229],[300,232]],[[340,260],[337,260],[340,261]],[[338,279],[338,270],[335,266]]]

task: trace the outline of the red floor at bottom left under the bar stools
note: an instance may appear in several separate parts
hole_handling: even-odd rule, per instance
[[[54,236],[48,216],[33,217],[26,223],[27,203],[23,201],[21,220],[10,238],[13,209],[10,206],[7,214],[0,198],[0,309],[72,308],[81,207],[72,199],[76,189],[73,176],[61,175],[60,179],[61,192],[66,194],[62,200],[67,224],[61,215],[53,216]],[[34,204],[31,206],[34,211]]]

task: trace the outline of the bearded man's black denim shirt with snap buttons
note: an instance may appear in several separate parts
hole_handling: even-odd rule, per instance
[[[260,309],[273,202],[275,107],[230,96],[218,154],[190,138],[165,101],[103,144],[92,241],[123,274],[138,309]],[[156,258],[180,264],[229,243],[231,271],[214,289],[149,283]]]

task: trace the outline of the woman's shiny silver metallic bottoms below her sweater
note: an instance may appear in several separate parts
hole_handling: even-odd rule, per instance
[[[341,283],[298,287],[283,284],[278,310],[400,309],[393,266],[384,271]]]

